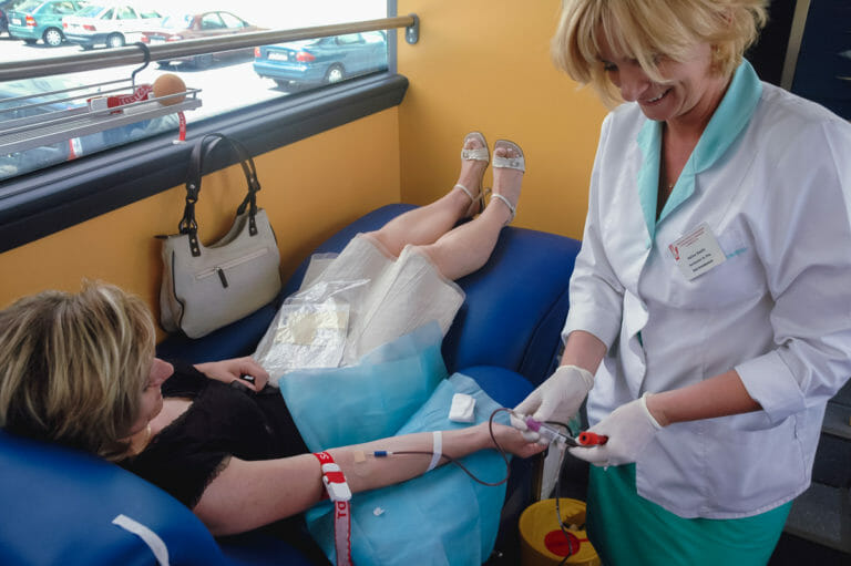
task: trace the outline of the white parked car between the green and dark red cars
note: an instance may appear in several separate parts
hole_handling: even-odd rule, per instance
[[[129,3],[89,4],[62,19],[65,39],[83,49],[95,45],[122,48],[136,41],[145,29],[153,29],[163,17],[156,10]]]

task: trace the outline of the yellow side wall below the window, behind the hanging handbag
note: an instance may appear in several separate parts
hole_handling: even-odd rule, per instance
[[[337,229],[399,202],[398,132],[398,109],[390,109],[255,158],[258,204],[275,228],[285,276]],[[204,177],[196,208],[202,241],[227,231],[245,186],[238,166]],[[178,186],[0,254],[0,308],[44,289],[79,290],[89,278],[133,291],[158,312],[153,236],[176,231],[184,197]]]

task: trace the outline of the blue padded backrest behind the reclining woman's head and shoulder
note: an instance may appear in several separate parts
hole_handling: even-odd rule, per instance
[[[0,430],[0,564],[155,564],[125,515],[153,531],[172,565],[230,564],[177,500],[91,454]]]

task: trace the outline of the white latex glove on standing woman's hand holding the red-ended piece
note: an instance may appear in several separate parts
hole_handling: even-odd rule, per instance
[[[574,456],[598,466],[632,464],[638,454],[662,430],[650,411],[647,410],[647,393],[612,411],[591,432],[605,434],[608,442],[599,446],[576,446],[568,449]]]

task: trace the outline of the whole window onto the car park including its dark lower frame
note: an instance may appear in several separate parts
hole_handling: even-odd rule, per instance
[[[40,0],[32,3],[41,6]],[[211,0],[193,6],[215,11],[215,0]],[[189,28],[195,16],[206,12],[192,13],[184,9],[186,3],[173,0],[148,0],[146,6],[151,10],[163,9],[164,18],[139,20],[139,24],[122,30],[127,45],[136,41],[155,45],[189,40],[202,32]],[[281,3],[269,4],[265,0],[243,0],[238,11],[233,8],[227,6],[229,16],[221,12],[221,27],[215,33],[370,20],[394,16],[396,9],[392,0],[316,0],[303,2],[298,9],[290,3],[281,7]],[[244,22],[232,27],[239,20]],[[396,31],[390,33],[394,37]],[[71,132],[66,140],[27,151],[3,151],[2,127],[9,122],[85,106],[91,94],[81,88],[95,85],[96,94],[109,95],[107,91],[114,88],[112,83],[129,82],[134,71],[137,71],[134,75],[136,85],[150,84],[170,72],[183,79],[188,89],[199,91],[203,101],[201,107],[185,112],[188,138],[222,131],[242,137],[250,151],[262,153],[401,101],[407,80],[382,73],[393,66],[392,55],[388,56],[388,49],[393,47],[387,41],[389,33],[368,32],[359,37],[360,43],[352,47],[368,45],[372,52],[361,53],[357,65],[351,69],[322,68],[307,61],[303,66],[309,69],[310,74],[300,76],[265,75],[263,61],[258,58],[271,50],[281,55],[287,50],[293,51],[298,43],[305,52],[303,59],[312,56],[319,62],[322,58],[310,51],[327,47],[334,38],[161,60],[139,71],[139,65],[130,65],[0,82],[0,251],[180,185],[184,181],[188,154],[188,146],[172,144],[178,134],[176,114],[93,134],[73,136]],[[362,38],[369,39],[365,41]],[[41,42],[35,39],[0,42],[0,61],[72,55],[81,49],[111,49],[104,43],[93,48],[69,40],[59,47],[45,42],[48,49],[41,45],[32,49],[31,43],[35,41]],[[269,58],[269,61],[275,66],[275,60]],[[369,73],[376,74],[360,80]],[[328,83],[345,80],[357,82],[342,90],[337,86],[324,89]],[[27,96],[29,100],[21,107],[20,100]],[[136,164],[139,168],[130,169],[130,164]],[[107,193],[109,196],[101,196]]]

